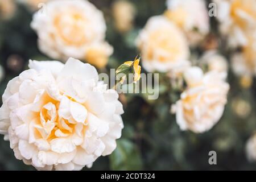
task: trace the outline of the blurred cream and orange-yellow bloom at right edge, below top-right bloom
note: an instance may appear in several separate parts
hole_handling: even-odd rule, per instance
[[[256,75],[256,34],[250,36],[242,51],[232,56],[232,68],[238,76]]]

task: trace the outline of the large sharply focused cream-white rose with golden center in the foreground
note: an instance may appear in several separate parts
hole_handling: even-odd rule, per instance
[[[40,170],[80,170],[116,147],[123,128],[115,90],[90,64],[30,61],[7,85],[0,133],[17,159]]]

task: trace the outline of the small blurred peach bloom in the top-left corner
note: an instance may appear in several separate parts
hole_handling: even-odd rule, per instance
[[[9,19],[14,15],[16,4],[14,0],[0,1],[0,19]]]

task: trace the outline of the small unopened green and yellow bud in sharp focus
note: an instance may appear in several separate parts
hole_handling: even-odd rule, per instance
[[[139,79],[141,79],[141,66],[139,65],[139,60],[140,59],[135,59],[134,61],[126,61],[117,68],[115,73],[121,83],[123,83],[127,77],[129,78],[129,74],[133,74],[132,82],[137,82]]]

